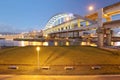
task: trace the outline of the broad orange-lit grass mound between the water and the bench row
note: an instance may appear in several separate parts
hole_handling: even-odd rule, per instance
[[[120,56],[95,47],[40,47],[41,65],[120,64]],[[120,54],[120,52],[118,52]],[[36,47],[0,50],[0,64],[37,64]]]

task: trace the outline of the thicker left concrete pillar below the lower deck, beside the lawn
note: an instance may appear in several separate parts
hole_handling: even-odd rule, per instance
[[[98,47],[103,47],[104,46],[104,29],[98,28],[96,32],[98,34]]]

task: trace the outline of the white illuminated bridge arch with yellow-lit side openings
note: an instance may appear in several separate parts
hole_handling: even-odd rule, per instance
[[[48,21],[48,23],[45,26],[44,34],[47,35],[54,32],[61,32],[80,27],[86,27],[94,23],[95,21],[91,21],[77,14],[61,13],[53,16]]]

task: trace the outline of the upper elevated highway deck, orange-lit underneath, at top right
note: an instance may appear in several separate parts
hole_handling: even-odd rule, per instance
[[[112,21],[112,16],[120,14],[120,2],[106,6],[97,11],[87,14],[85,17],[91,20],[98,20],[104,18],[106,21]]]

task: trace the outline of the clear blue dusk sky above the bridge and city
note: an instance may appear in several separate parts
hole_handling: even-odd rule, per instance
[[[88,6],[99,9],[120,0],[0,0],[0,32],[40,30],[57,13],[84,16]]]

